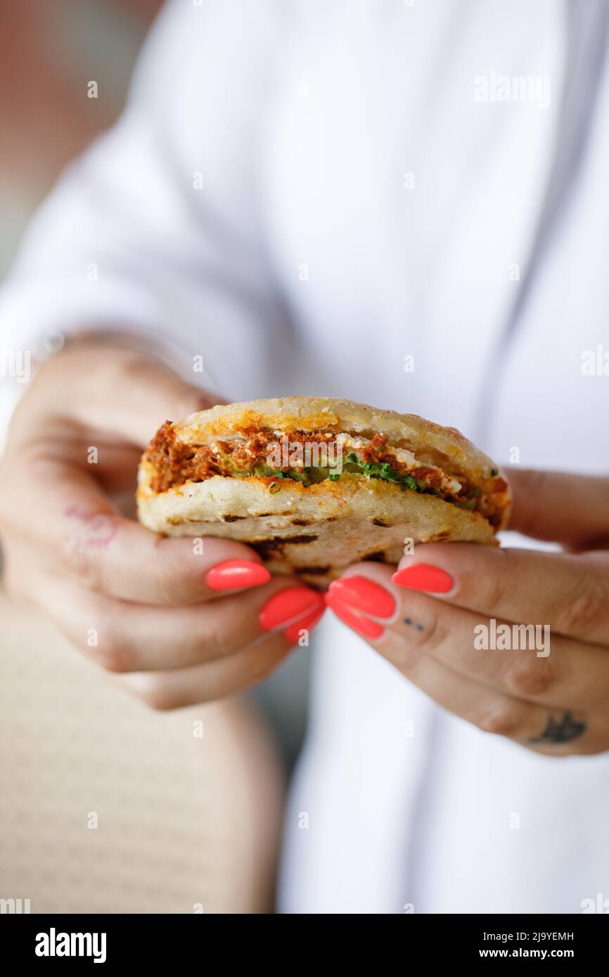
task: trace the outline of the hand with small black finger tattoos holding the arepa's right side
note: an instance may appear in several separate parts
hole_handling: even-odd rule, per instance
[[[349,568],[328,606],[485,732],[550,755],[609,750],[609,480],[513,470],[510,481],[510,529],[570,552],[421,543],[397,573]]]

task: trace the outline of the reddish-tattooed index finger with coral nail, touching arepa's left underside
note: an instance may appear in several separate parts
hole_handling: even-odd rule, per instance
[[[16,482],[11,526],[35,545],[38,562],[110,597],[196,604],[270,579],[244,543],[165,537],[125,519],[86,472],[63,461],[39,457]]]

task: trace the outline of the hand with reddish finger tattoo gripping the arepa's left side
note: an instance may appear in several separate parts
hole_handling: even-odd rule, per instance
[[[239,542],[205,537],[199,553],[121,514],[157,427],[211,403],[152,358],[74,344],[23,396],[0,466],[7,589],[157,708],[257,682],[324,610]]]

